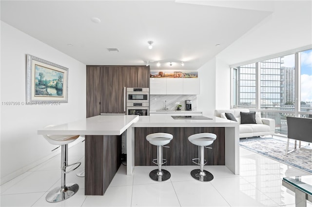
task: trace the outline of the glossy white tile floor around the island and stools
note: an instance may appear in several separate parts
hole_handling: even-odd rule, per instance
[[[82,162],[84,142],[69,149],[69,163]],[[25,172],[0,186],[1,207],[294,207],[294,193],[281,184],[282,177],[308,173],[281,164],[265,156],[240,148],[240,175],[225,166],[205,166],[214,180],[194,180],[190,171],[197,166],[164,166],[171,179],[163,183],[149,178],[153,167],[137,166],[131,176],[126,167],[117,171],[104,196],[85,196],[84,178],[76,172],[67,175],[67,183],[78,183],[79,191],[59,203],[45,201],[47,192],[60,186],[60,156]],[[308,207],[312,203],[308,202]]]

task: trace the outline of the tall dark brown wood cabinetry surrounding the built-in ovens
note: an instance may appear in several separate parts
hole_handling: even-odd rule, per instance
[[[87,117],[125,113],[126,88],[150,87],[149,66],[87,66],[86,74]]]

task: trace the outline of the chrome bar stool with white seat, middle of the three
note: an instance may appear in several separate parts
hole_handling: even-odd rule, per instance
[[[173,135],[170,133],[151,133],[146,136],[146,140],[149,141],[150,144],[157,146],[157,159],[153,159],[153,163],[158,165],[158,169],[154,169],[150,172],[150,178],[152,180],[162,182],[171,177],[169,171],[161,169],[161,165],[167,162],[166,159],[162,158],[162,147],[169,148],[164,145],[169,144],[172,139]]]

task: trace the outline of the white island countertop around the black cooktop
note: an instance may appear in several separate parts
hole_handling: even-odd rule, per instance
[[[207,117],[212,119],[174,119],[171,114],[139,116],[132,127],[239,127],[235,121],[216,116],[207,115]]]

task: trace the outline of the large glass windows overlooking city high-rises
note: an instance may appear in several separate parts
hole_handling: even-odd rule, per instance
[[[273,118],[275,133],[287,135],[286,116],[312,117],[312,49],[240,65],[232,74],[233,107]]]

